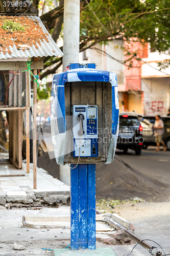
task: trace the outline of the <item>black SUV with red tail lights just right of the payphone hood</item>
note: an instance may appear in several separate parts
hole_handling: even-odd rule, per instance
[[[140,155],[143,145],[143,127],[140,125],[137,115],[134,112],[124,112],[119,115],[119,132],[117,148],[127,153],[128,148]]]

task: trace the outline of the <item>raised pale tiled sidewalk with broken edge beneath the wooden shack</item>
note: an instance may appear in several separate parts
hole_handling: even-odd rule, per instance
[[[11,207],[15,203],[33,206],[67,203],[70,197],[69,186],[37,167],[37,189],[34,189],[33,163],[30,163],[30,174],[27,174],[26,163],[22,163],[22,169],[18,170],[8,158],[8,153],[0,154],[0,204],[10,203]]]

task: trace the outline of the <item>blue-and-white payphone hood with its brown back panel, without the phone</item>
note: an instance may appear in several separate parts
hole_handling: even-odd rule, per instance
[[[98,156],[80,157],[79,163],[113,162],[119,122],[116,74],[95,69],[89,63],[82,68],[55,74],[52,83],[51,131],[54,154],[58,164],[76,164],[72,156],[72,106],[98,106]],[[70,65],[71,67],[71,65]],[[79,68],[75,68],[79,67]]]

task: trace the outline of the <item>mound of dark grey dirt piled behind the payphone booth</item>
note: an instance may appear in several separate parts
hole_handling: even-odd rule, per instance
[[[38,157],[42,167],[54,178],[59,179],[59,165],[48,153]],[[146,201],[165,202],[170,195],[170,185],[149,178],[132,168],[117,155],[112,164],[96,164],[96,199],[142,198]]]

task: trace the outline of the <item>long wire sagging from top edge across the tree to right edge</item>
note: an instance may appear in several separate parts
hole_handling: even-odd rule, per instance
[[[119,42],[113,37],[113,35],[112,35],[112,34],[106,29],[106,27],[101,23],[101,21],[100,21],[100,19],[98,18],[98,16],[96,16],[95,12],[91,9],[91,6],[89,5],[88,1],[87,1],[87,0],[85,0],[85,1],[86,1],[86,3],[88,4],[88,6],[89,6],[90,10],[92,11],[93,15],[95,16],[95,18],[98,20],[98,22],[100,23],[100,25],[101,25],[102,28],[104,29],[104,31],[105,31],[114,41],[116,41],[116,42],[119,44]],[[134,55],[131,51],[129,51],[128,49],[126,49],[124,46],[122,46],[122,48],[124,48],[128,53],[130,53],[130,54],[131,54],[132,56],[134,56],[136,59],[142,61],[143,63],[147,64],[147,65],[150,66],[151,68],[153,68],[153,69],[155,69],[155,70],[161,72],[161,73],[164,74],[164,75],[170,76],[170,75],[167,74],[166,72],[163,72],[163,71],[161,71],[161,70],[159,70],[159,69],[156,69],[156,68],[152,67],[147,61],[144,61],[144,60],[142,60],[141,58],[137,57],[137,56]]]

